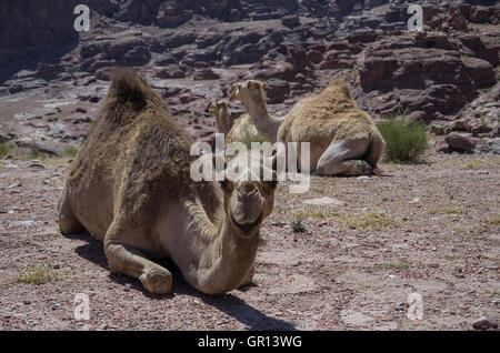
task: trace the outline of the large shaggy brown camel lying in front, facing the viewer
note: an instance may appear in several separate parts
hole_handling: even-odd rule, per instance
[[[249,283],[276,178],[194,182],[193,139],[129,69],[113,72],[97,121],[59,200],[62,233],[86,229],[103,242],[112,272],[139,279],[154,294],[171,291],[172,275],[150,259],[170,258],[190,285],[208,294]],[[240,158],[260,161],[251,151]]]

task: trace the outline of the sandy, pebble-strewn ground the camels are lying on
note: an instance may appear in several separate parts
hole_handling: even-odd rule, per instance
[[[253,285],[217,296],[167,260],[171,295],[111,274],[100,242],[58,230],[67,161],[0,161],[0,330],[469,330],[482,315],[499,320],[500,157],[427,160],[383,164],[384,178],[312,176],[306,194],[280,184]],[[326,196],[331,204],[304,203]],[[292,230],[298,216],[304,233]],[[37,268],[52,281],[19,281]],[[74,319],[78,293],[89,296],[88,321]],[[410,293],[422,320],[407,317]]]

